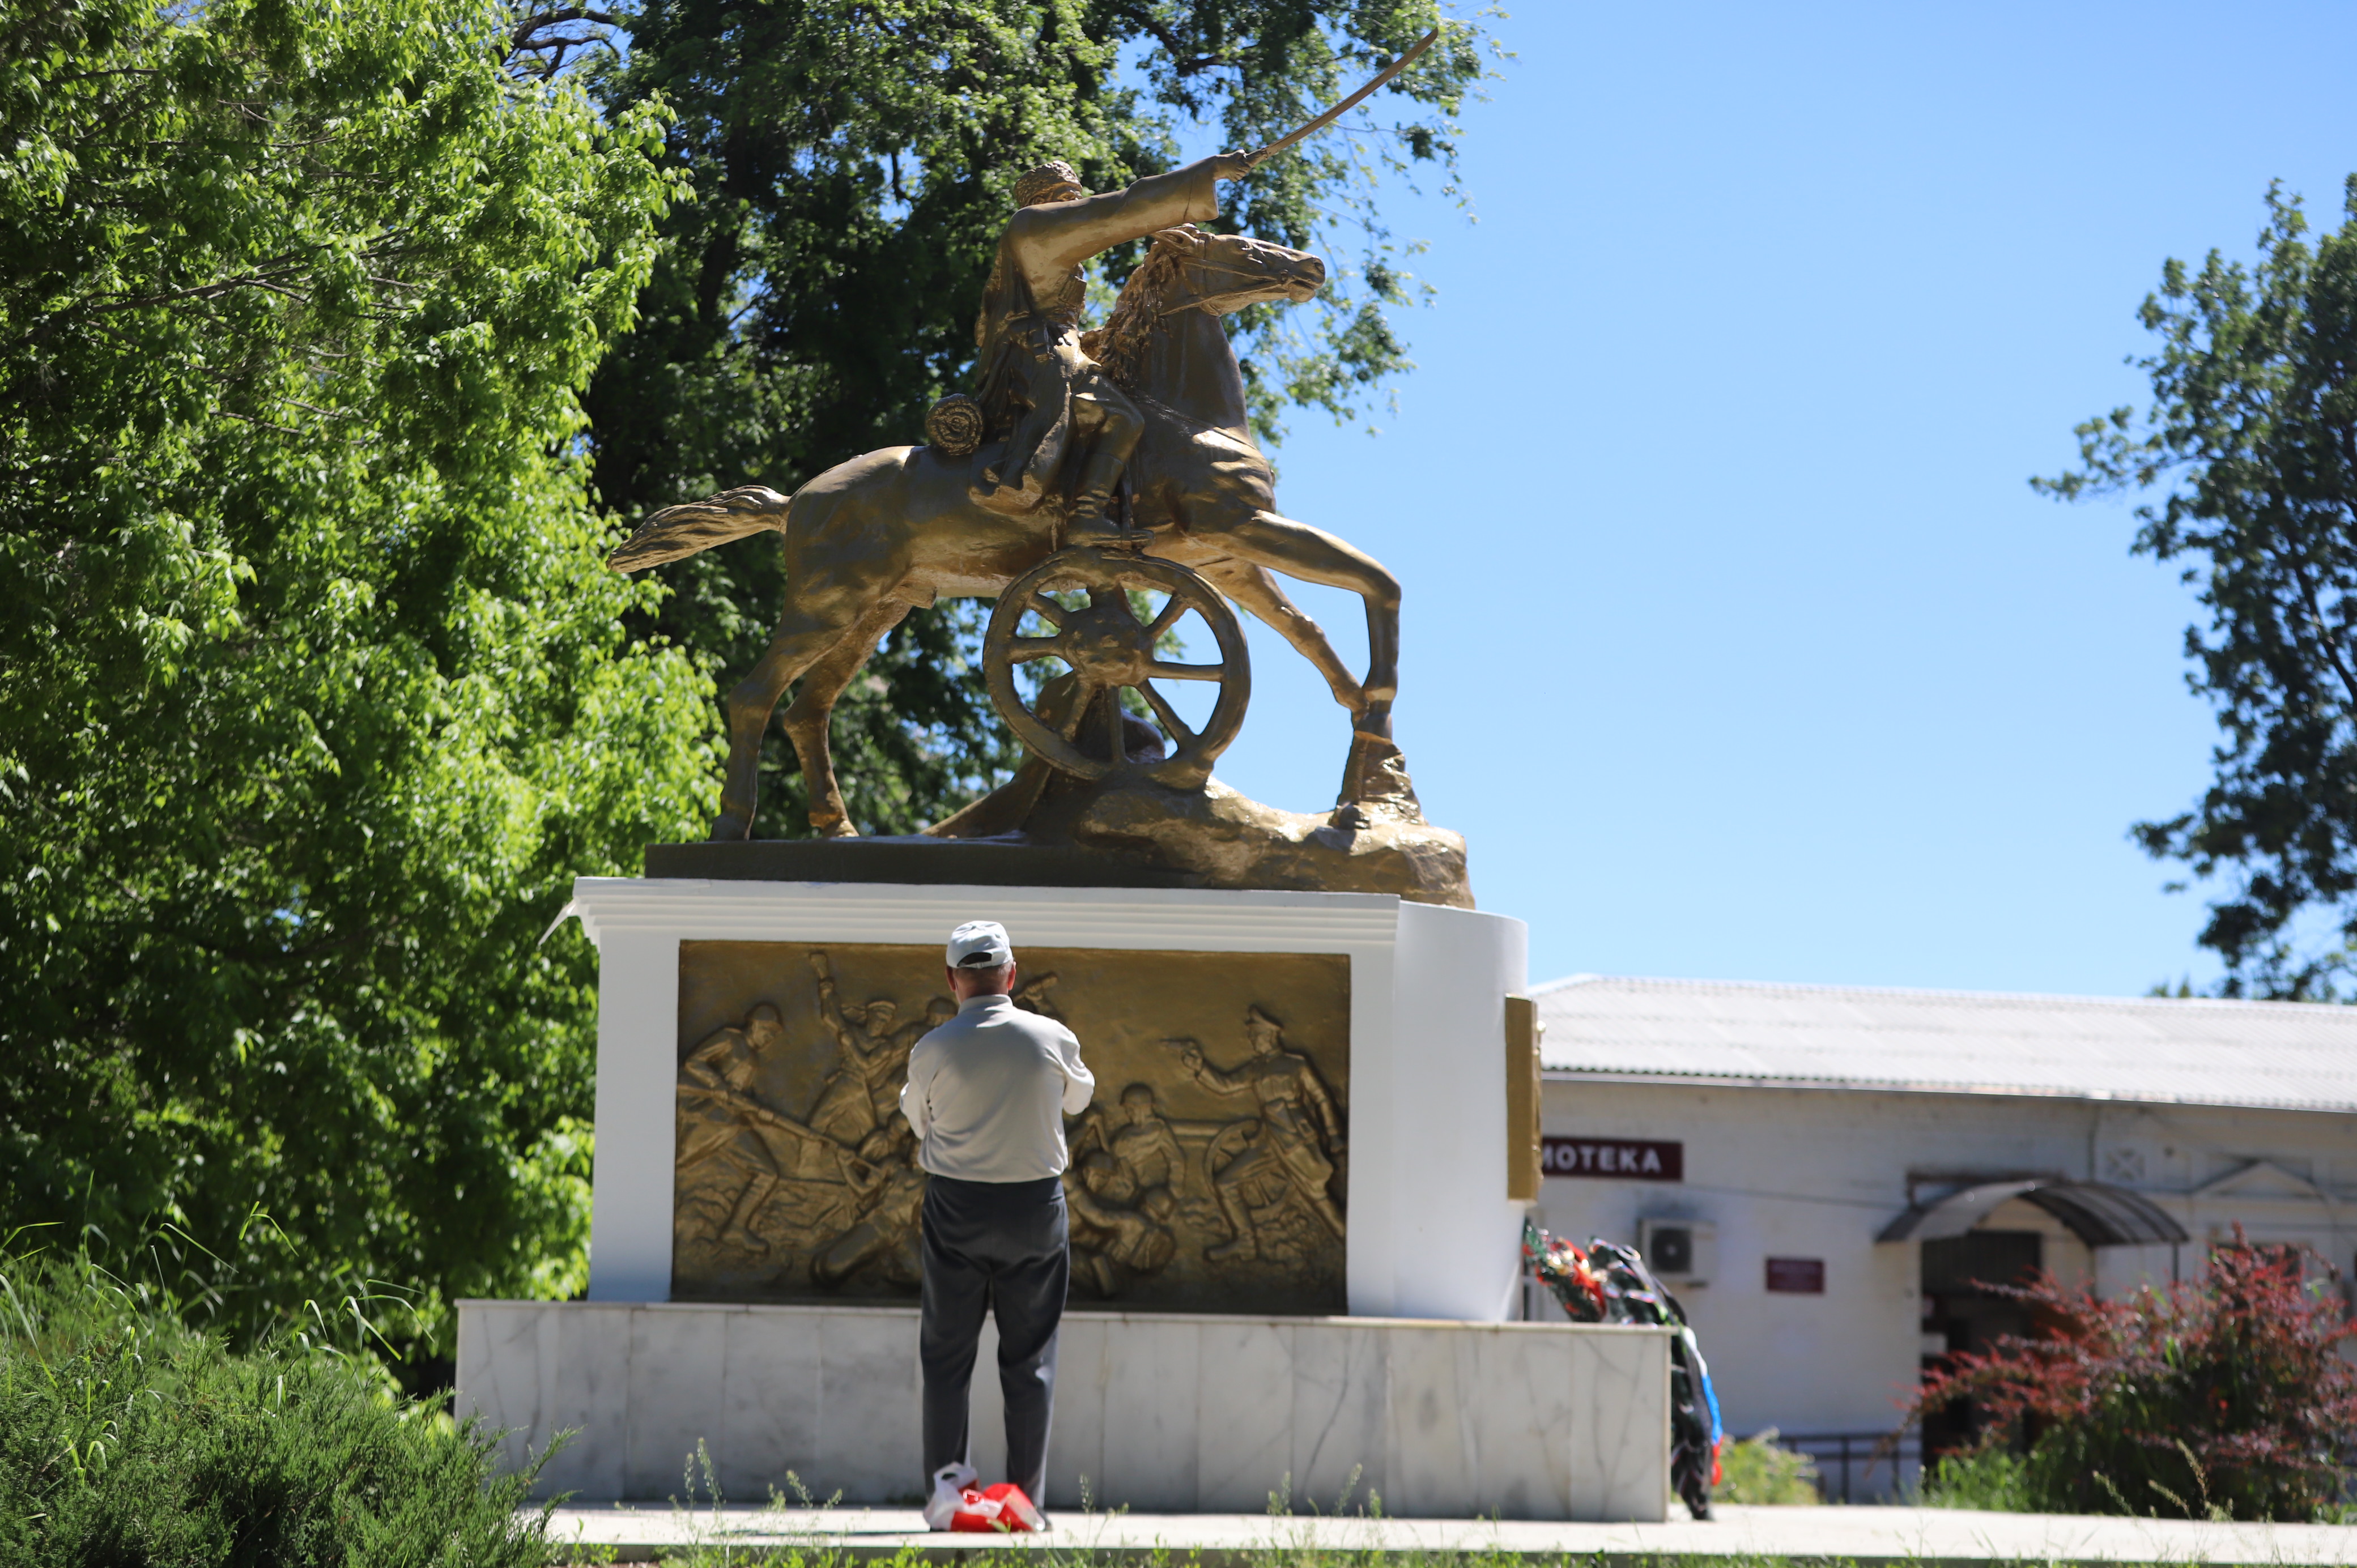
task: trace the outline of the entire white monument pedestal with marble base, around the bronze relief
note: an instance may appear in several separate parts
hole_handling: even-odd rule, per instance
[[[1070,1311],[1051,1507],[1259,1514],[1285,1493],[1334,1509],[1355,1474],[1346,1507],[1374,1495],[1388,1514],[1666,1516],[1669,1332],[1506,1323],[1523,1205],[1506,1195],[1504,1002],[1525,983],[1523,922],[1384,894],[639,877],[582,877],[573,908],[601,960],[589,1302],[460,1304],[460,1415],[507,1431],[514,1462],[580,1429],[549,1490],[676,1495],[702,1441],[738,1500],[787,1471],[820,1497],[917,1495],[915,1306],[672,1299],[681,943],[849,953],[1002,920],[1018,957],[1348,957],[1348,1316]],[[985,1344],[985,1476],[999,1422]]]

